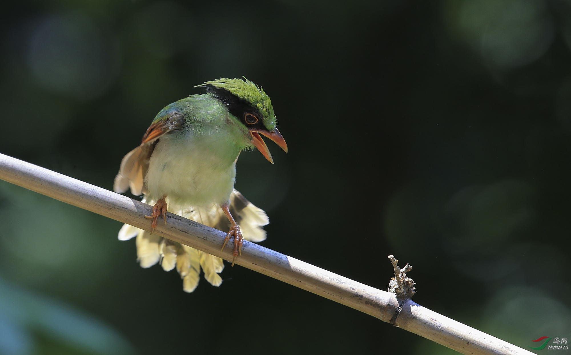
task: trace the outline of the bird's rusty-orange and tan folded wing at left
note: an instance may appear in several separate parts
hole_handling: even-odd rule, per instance
[[[113,191],[123,193],[131,188],[133,195],[142,195],[148,160],[151,158],[156,143],[162,135],[178,130],[183,123],[184,116],[179,112],[171,112],[164,118],[155,119],[143,135],[140,146],[128,152],[121,160],[119,173],[115,176],[113,183]]]

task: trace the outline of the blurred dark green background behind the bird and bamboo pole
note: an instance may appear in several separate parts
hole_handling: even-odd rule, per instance
[[[156,112],[245,75],[289,147],[238,162],[264,247],[379,289],[394,254],[436,312],[524,348],[571,336],[571,2],[29,0],[0,20],[3,154],[111,189]],[[184,293],[119,222],[0,199],[0,354],[453,353],[242,267]]]

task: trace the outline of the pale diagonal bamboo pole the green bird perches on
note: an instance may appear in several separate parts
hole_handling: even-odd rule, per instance
[[[0,179],[99,215],[150,229],[150,223],[144,218],[145,214],[150,215],[150,205],[3,154],[0,154]],[[154,233],[232,260],[232,248],[220,251],[225,233],[170,212],[167,219],[168,223],[159,223]],[[463,354],[532,354],[409,299],[397,300],[393,293],[357,283],[255,243],[244,241],[242,256],[236,259],[236,264],[360,310]]]

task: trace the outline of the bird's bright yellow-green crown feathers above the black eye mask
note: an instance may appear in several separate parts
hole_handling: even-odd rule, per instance
[[[244,76],[243,78],[244,80],[236,78],[220,78],[217,80],[211,80],[210,82],[204,82],[204,84],[200,84],[195,87],[212,85],[214,87],[230,91],[231,94],[238,96],[238,98],[245,100],[253,107],[258,108],[258,111],[262,114],[264,126],[266,126],[270,131],[274,130],[278,122],[274,115],[274,107],[272,107],[270,96],[264,92],[262,87],[258,87]]]

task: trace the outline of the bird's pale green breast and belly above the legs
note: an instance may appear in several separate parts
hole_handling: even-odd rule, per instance
[[[184,114],[185,127],[159,139],[146,176],[148,191],[180,204],[226,202],[234,187],[242,130],[210,95],[175,104],[172,108]]]

